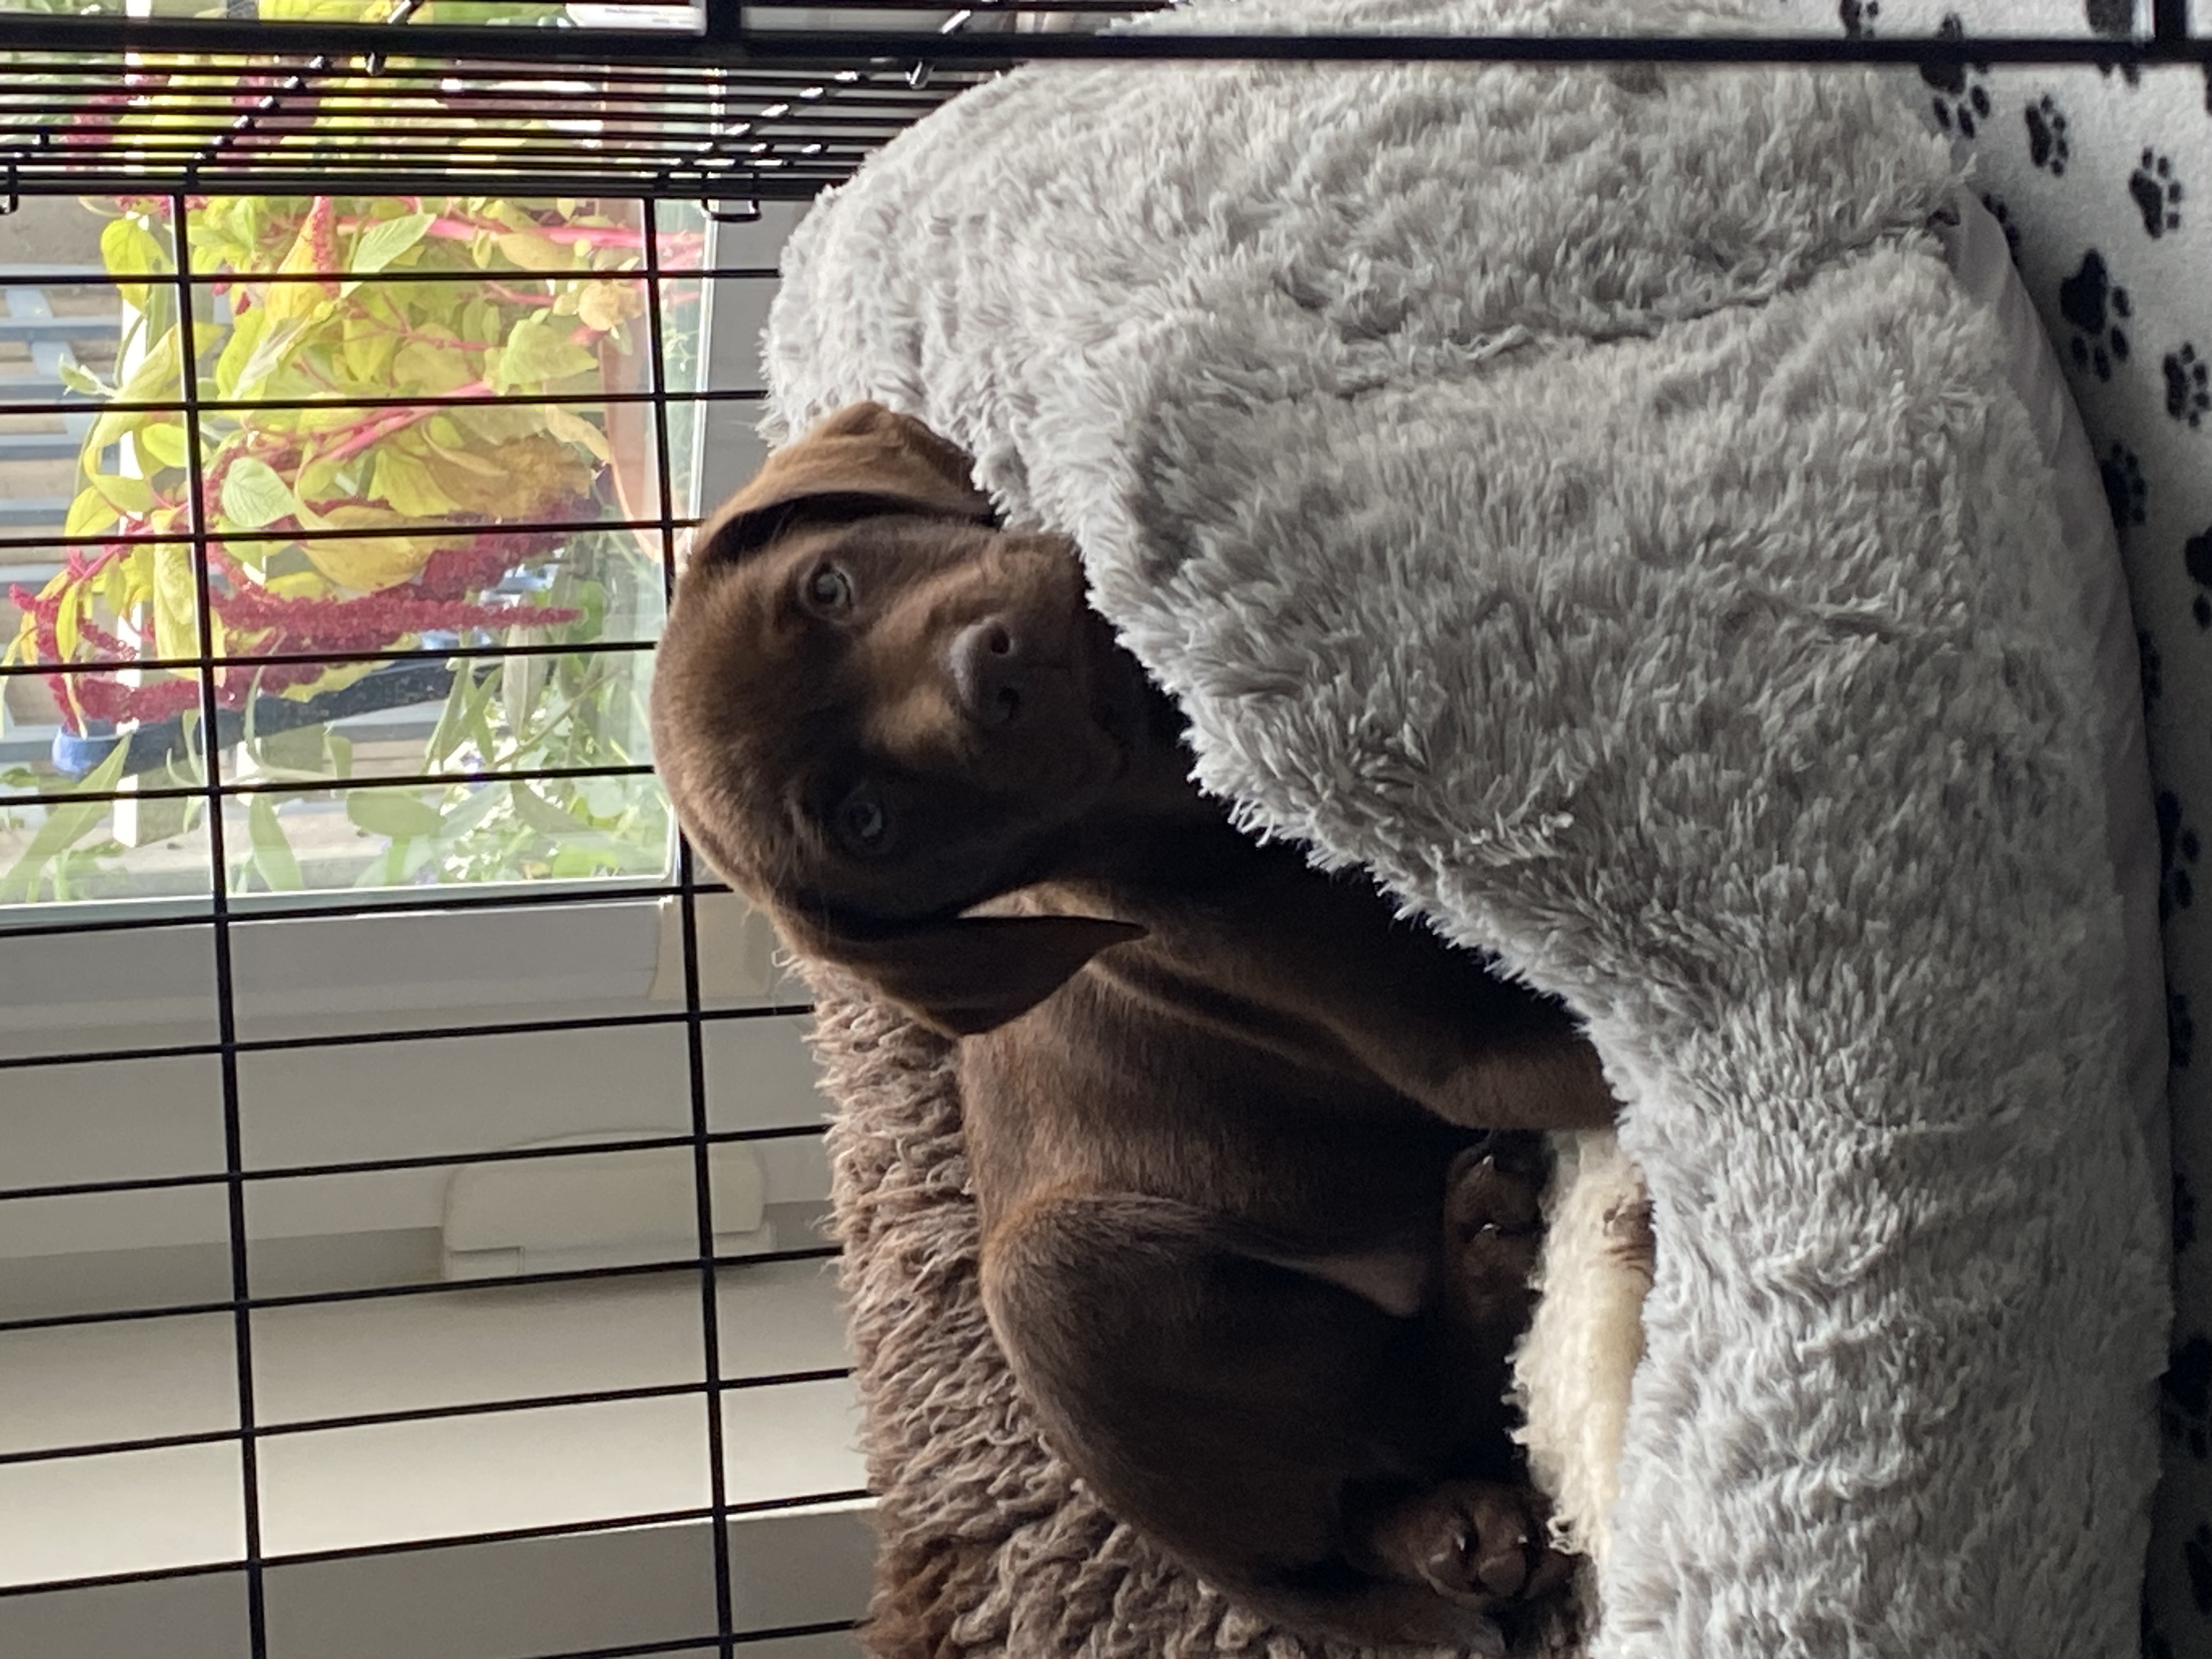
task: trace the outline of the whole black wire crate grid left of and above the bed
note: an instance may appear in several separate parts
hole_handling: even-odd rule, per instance
[[[869,153],[1046,60],[2212,64],[1148,9],[0,0],[0,1659],[856,1652],[807,1004],[644,697]]]

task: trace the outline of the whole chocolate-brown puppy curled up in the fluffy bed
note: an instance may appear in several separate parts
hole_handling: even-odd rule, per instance
[[[1495,1641],[1566,1577],[1502,1405],[1553,1002],[1237,834],[1073,549],[878,405],[706,526],[653,688],[684,830],[953,1048],[991,1325],[1117,1515],[1261,1610]]]

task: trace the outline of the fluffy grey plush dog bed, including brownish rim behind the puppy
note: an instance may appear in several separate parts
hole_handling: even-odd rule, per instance
[[[2088,641],[1953,184],[1860,73],[1026,69],[825,201],[774,310],[772,425],[969,447],[1208,790],[1586,1015],[1661,1239],[1604,1655],[2135,1650],[2166,1287]],[[847,1082],[914,1042],[872,1018]],[[936,1133],[863,1115],[841,1194],[894,1533],[969,1540],[953,1650],[1265,1639],[949,1323],[971,1234],[898,1230],[958,1206]]]

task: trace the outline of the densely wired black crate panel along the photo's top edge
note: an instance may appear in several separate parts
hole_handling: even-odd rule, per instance
[[[2073,35],[1121,33],[1159,0],[150,0],[0,9],[0,204],[33,190],[655,192],[750,212],[849,177],[1024,60],[2205,62],[2188,0]],[[1825,20],[1823,20],[1825,22]]]

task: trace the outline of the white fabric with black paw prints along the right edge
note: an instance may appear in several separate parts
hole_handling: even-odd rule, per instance
[[[2126,38],[2150,0],[1774,0],[1805,31]],[[2212,0],[2190,7],[2212,31]],[[1955,64],[1922,73],[1929,122],[1971,157],[2073,380],[2128,560],[2166,872],[2174,1113],[2166,1478],[2143,1608],[2150,1659],[2212,1659],[2212,71]]]

